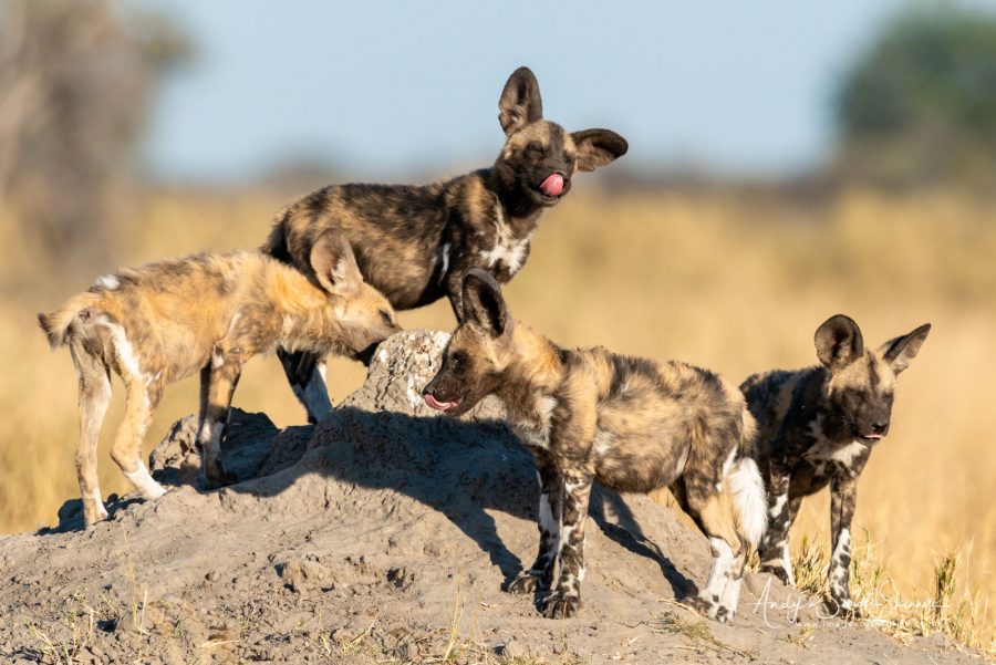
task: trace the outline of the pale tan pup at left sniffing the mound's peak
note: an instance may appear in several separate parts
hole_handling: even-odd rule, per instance
[[[96,477],[111,371],[127,391],[111,457],[145,499],[165,490],[139,458],[165,386],[200,371],[205,480],[234,478],[220,459],[242,364],[278,346],[318,355],[355,353],[400,328],[387,300],[365,284],[349,242],[329,231],[311,250],[314,282],[259,252],[201,253],[100,278],[59,311],[39,314],[53,349],[70,347],[80,380],[76,475],[87,526],[107,517]]]

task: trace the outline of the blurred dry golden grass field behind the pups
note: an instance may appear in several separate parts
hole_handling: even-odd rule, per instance
[[[996,205],[953,193],[851,191],[806,205],[735,193],[588,191],[544,218],[529,264],[507,290],[513,314],[561,344],[675,357],[740,380],[813,364],[812,333],[838,312],[853,316],[874,344],[934,324],[900,380],[893,430],[861,480],[855,527],[869,531],[876,563],[914,599],[934,596],[935,565],[961,550],[953,598],[971,590],[985,605],[996,589],[988,423],[996,404]],[[262,195],[151,197],[136,205],[120,262],[256,246],[282,202]],[[33,319],[70,291],[25,278],[38,272],[34,252],[12,220],[0,222],[0,247],[9,248],[0,304],[0,531],[17,531],[52,522],[61,502],[77,496],[75,381],[69,355],[48,352]],[[94,266],[72,289],[111,268]],[[442,302],[402,322],[453,325]],[[333,396],[362,378],[357,364],[333,363]],[[147,447],[195,409],[196,391],[194,380],[167,391]],[[236,404],[279,425],[302,420],[272,359],[248,365]],[[105,493],[126,489],[106,453],[121,406],[116,396],[103,437]],[[828,530],[823,492],[803,503],[793,542]],[[976,643],[990,644],[992,621],[982,622],[985,636]]]

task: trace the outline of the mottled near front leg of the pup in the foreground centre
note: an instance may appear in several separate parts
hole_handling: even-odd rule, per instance
[[[560,574],[557,588],[543,601],[543,615],[570,617],[581,609],[584,579],[584,519],[591,496],[592,477],[587,472],[563,475],[562,527],[560,529]]]

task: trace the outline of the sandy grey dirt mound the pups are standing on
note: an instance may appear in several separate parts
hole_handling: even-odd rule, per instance
[[[820,621],[767,575],[749,575],[732,624],[703,620],[675,600],[706,576],[705,539],[646,497],[600,488],[584,607],[543,619],[537,599],[501,591],[538,544],[532,459],[497,403],[460,420],[423,404],[445,342],[385,342],[318,427],[278,432],[236,411],[224,455],[237,485],[201,489],[188,417],[152,455],[165,497],[113,498],[90,531],[71,500],[59,527],[0,537],[0,661],[971,661]],[[791,623],[767,603],[813,606]]]

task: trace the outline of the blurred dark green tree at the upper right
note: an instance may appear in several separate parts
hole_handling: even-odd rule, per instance
[[[843,81],[839,167],[885,184],[996,183],[996,12],[906,9]]]

